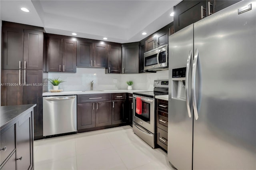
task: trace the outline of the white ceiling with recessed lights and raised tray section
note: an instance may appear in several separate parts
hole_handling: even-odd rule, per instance
[[[110,42],[138,42],[173,21],[180,0],[0,0],[1,20],[47,33]],[[20,10],[25,7],[26,13]],[[148,34],[143,36],[142,32]]]

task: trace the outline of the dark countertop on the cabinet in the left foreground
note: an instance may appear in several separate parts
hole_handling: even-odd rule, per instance
[[[20,116],[26,114],[36,107],[36,104],[1,106],[0,110],[0,130],[8,124],[16,121]]]

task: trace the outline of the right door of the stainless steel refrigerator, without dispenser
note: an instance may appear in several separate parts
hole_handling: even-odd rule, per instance
[[[194,24],[194,170],[256,169],[255,9],[245,0]]]

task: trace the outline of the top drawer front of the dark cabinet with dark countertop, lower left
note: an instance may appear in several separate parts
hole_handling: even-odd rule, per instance
[[[14,125],[12,127],[8,128],[4,132],[1,130],[1,142],[0,142],[0,148],[1,148],[1,164],[6,160],[6,158],[12,153],[12,151],[15,149],[15,130]]]

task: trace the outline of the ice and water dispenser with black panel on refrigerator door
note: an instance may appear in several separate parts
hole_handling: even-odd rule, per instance
[[[172,99],[186,101],[186,67],[172,69]]]

